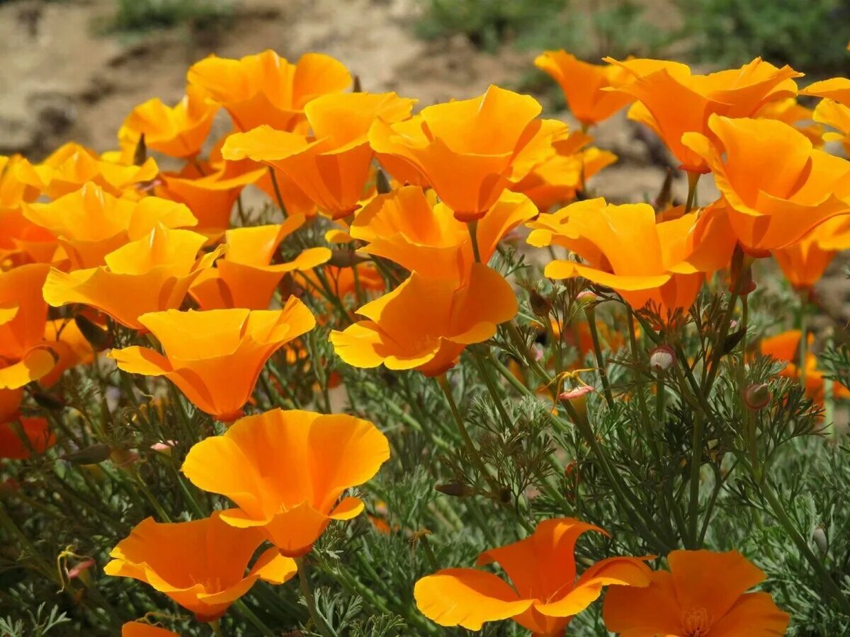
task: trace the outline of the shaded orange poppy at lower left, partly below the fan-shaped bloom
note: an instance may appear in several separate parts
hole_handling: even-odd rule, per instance
[[[224,615],[258,579],[284,583],[297,572],[295,561],[265,550],[248,572],[263,533],[224,523],[216,511],[203,520],[161,524],[149,517],[111,551],[107,575],[148,583],[212,622]]]

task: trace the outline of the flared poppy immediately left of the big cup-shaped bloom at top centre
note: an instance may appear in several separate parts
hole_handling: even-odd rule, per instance
[[[258,127],[227,138],[222,155],[269,164],[297,183],[320,211],[334,219],[348,217],[360,207],[370,178],[373,153],[366,134],[371,123],[403,120],[414,102],[395,93],[326,95],[304,107],[312,135]]]

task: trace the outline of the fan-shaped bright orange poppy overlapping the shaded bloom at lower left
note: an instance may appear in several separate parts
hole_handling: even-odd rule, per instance
[[[235,502],[223,521],[259,529],[283,555],[297,557],[331,520],[360,515],[359,498],[340,496],[388,458],[387,438],[367,420],[273,409],[195,444],[183,472],[196,487]]]

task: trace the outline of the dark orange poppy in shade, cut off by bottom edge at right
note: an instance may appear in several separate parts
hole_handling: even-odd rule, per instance
[[[768,593],[747,593],[764,573],[738,551],[674,550],[670,571],[649,573],[649,586],[605,595],[605,628],[629,637],[785,634],[788,614]]]

